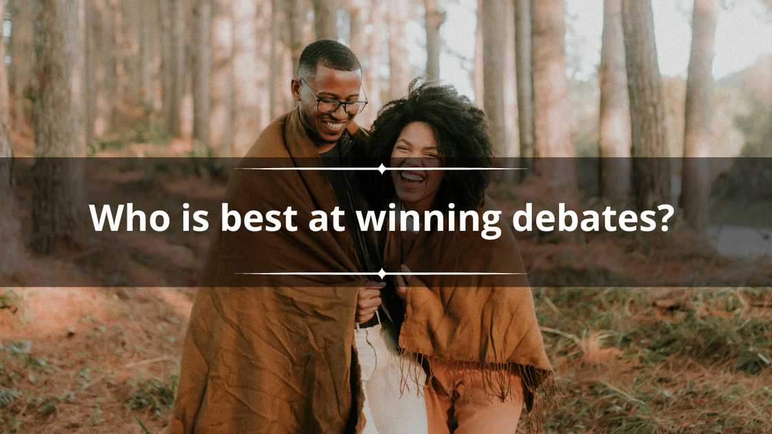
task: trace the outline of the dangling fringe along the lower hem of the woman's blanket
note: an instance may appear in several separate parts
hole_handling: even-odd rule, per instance
[[[547,412],[557,406],[557,398],[560,396],[553,371],[535,368],[528,364],[452,361],[434,356],[429,357],[422,353],[408,352],[404,349],[400,349],[399,359],[401,394],[409,391],[412,384],[416,386],[420,395],[423,393],[424,385],[432,384],[434,379],[432,360],[434,360],[449,367],[454,376],[481,374],[486,393],[491,398],[506,402],[507,399],[513,398],[513,394],[520,389],[514,383],[517,378],[511,375],[511,373],[516,372],[523,388],[523,405],[527,413],[524,425],[527,432],[543,432]],[[427,376],[423,384],[421,384],[422,371],[426,371]]]

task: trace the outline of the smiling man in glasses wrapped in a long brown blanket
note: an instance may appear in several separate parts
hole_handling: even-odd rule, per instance
[[[266,127],[239,169],[340,165],[366,139],[354,123],[366,102],[350,49],[313,42],[290,86],[296,109]],[[291,206],[300,230],[222,232],[191,312],[170,432],[361,431],[354,324],[374,317],[383,284],[249,274],[379,270],[372,234],[307,230],[314,210],[364,208],[347,173],[232,171],[229,209]]]

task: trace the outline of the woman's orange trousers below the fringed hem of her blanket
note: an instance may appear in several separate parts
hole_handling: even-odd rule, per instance
[[[429,434],[505,434],[515,432],[523,410],[523,389],[501,402],[486,392],[479,369],[432,363],[432,385],[424,388]],[[517,375],[513,383],[517,384]],[[453,428],[451,431],[451,427]]]

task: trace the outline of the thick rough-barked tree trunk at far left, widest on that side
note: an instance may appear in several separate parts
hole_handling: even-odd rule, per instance
[[[36,0],[35,6],[38,86],[33,125],[38,159],[33,168],[32,235],[36,251],[46,254],[59,242],[76,243],[81,217],[82,174],[72,157],[86,154],[80,107],[83,8],[70,0]]]

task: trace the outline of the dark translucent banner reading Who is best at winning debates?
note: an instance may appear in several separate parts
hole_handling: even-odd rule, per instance
[[[468,235],[479,237],[473,243],[477,251],[464,253],[479,255],[472,257],[479,260],[455,262],[452,270],[442,269],[446,264],[424,263],[424,269],[411,270],[418,279],[442,275],[443,284],[463,287],[485,275],[492,285],[521,285],[518,272],[523,270],[485,265],[493,263],[486,260],[491,254],[486,246],[500,243],[511,231],[534,287],[772,287],[772,158],[498,159],[489,168],[491,208],[464,216],[462,209],[445,203],[439,213],[420,215],[418,222],[401,219],[399,207],[388,206],[396,201],[375,200],[383,194],[378,186],[393,175],[388,164],[380,164],[349,161],[340,171],[372,199],[370,209],[354,210],[361,216],[338,212],[337,218],[334,210],[320,212],[326,215],[327,232],[337,232],[339,240],[361,222],[373,229],[381,212],[383,225],[376,237],[381,242],[387,232],[404,234],[403,220],[418,225],[418,232],[442,225],[445,233],[464,227]],[[462,160],[443,164],[457,171],[456,182],[483,170]],[[248,251],[252,260],[243,262],[243,270],[228,271],[239,273],[228,280],[233,285],[347,285],[362,278],[392,280],[401,273],[384,264],[358,270],[361,275],[326,275],[324,270],[304,270],[302,260],[269,260],[277,249],[293,243],[313,251],[317,237],[329,236],[320,229],[320,215],[312,229],[314,216],[287,209],[291,201],[286,198],[308,195],[283,187],[287,177],[299,176],[298,168],[320,170],[320,163],[0,159],[0,173],[12,173],[10,186],[0,192],[0,242],[7,242],[0,249],[0,287],[199,287],[205,284],[201,276],[208,256],[216,256],[212,246],[225,233],[231,240],[250,240],[239,251]],[[273,195],[262,201],[271,203],[271,209],[252,209],[250,215],[232,209],[226,185],[238,170],[259,179],[263,195]],[[454,188],[463,188],[459,185]],[[683,207],[689,201],[703,204],[696,207],[703,229],[689,224],[694,218]],[[367,212],[373,212],[371,219]],[[262,242],[261,234],[269,241]],[[451,254],[456,247],[463,250],[442,248]],[[514,254],[496,250],[509,253]],[[209,264],[216,262],[210,259]],[[250,265],[255,263],[263,268]]]

